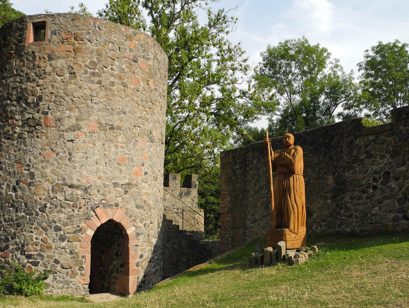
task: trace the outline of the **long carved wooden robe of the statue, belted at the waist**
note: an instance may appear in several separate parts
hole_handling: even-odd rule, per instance
[[[281,152],[285,152],[284,157],[280,156]],[[271,160],[272,170],[276,172],[272,225],[298,234],[299,227],[306,225],[303,150],[299,146],[276,150]]]

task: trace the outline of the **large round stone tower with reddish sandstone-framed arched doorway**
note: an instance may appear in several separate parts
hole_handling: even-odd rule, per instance
[[[46,292],[160,280],[167,57],[90,16],[0,30],[0,258],[51,268]]]

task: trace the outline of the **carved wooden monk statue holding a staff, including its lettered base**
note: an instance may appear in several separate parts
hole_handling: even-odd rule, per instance
[[[268,135],[266,134],[268,137]],[[276,247],[285,241],[287,249],[306,245],[306,201],[303,178],[303,150],[294,146],[294,136],[285,134],[285,148],[273,151],[269,138],[265,138],[270,150],[271,169],[276,172],[272,195],[272,229],[267,230],[267,246]]]

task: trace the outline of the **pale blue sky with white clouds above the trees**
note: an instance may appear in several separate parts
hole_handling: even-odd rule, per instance
[[[11,0],[13,7],[26,14],[67,12],[79,0]],[[102,9],[106,0],[84,0],[91,13]],[[288,38],[306,36],[310,43],[319,42],[335,58],[340,59],[345,71],[362,61],[365,49],[378,41],[395,39],[409,42],[408,0],[220,0],[211,3],[214,9],[231,9],[240,5],[231,15],[238,17],[236,31],[227,38],[242,42],[243,49],[256,65],[260,52],[268,44],[276,45]]]

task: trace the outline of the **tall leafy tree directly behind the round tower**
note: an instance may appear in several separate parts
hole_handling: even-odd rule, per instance
[[[200,25],[198,10],[207,22]],[[147,29],[169,60],[165,172],[198,172],[218,164],[218,152],[240,125],[257,115],[254,92],[239,88],[244,51],[225,36],[237,18],[204,0],[110,0],[99,16]],[[142,18],[147,16],[148,22]]]

